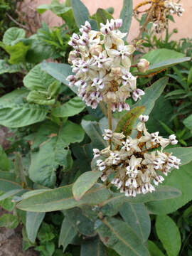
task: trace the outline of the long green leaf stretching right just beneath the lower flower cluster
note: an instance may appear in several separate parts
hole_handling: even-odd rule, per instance
[[[177,198],[181,196],[181,192],[176,188],[171,188],[169,186],[159,186],[153,193],[146,193],[137,195],[136,198],[127,198],[124,193],[112,193],[111,197],[100,204],[101,212],[104,215],[113,216],[119,212],[119,208],[123,203],[146,203],[150,201],[159,201],[170,198]]]

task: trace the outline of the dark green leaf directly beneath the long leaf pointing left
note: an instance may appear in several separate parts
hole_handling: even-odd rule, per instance
[[[87,218],[80,208],[75,207],[73,209],[66,210],[65,215],[78,233],[86,235],[87,237],[96,235],[94,222]]]

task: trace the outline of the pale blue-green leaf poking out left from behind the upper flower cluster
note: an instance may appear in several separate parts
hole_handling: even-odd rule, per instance
[[[68,75],[72,75],[72,70],[70,65],[61,64],[61,63],[41,63],[41,69],[46,71],[53,78],[57,79],[60,82],[63,82],[64,85],[69,85],[69,82],[66,80]],[[73,92],[78,94],[77,87],[70,87]]]

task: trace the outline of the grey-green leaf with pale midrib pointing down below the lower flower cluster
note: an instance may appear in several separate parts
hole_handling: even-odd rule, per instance
[[[120,215],[125,222],[134,230],[145,242],[151,232],[151,220],[149,213],[143,203],[124,203],[119,209]]]

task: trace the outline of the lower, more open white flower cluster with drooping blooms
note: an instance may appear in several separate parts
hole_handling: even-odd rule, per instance
[[[155,190],[154,185],[164,181],[161,174],[167,176],[171,168],[179,168],[181,160],[164,152],[169,144],[177,144],[174,134],[165,139],[159,132],[149,133],[145,122],[148,116],[141,115],[137,124],[137,138],[125,137],[122,133],[105,130],[104,139],[114,143],[114,150],[93,149],[97,160],[97,169],[102,171],[102,181],[113,176],[111,183],[120,189],[125,196],[136,196],[137,193],[147,193]],[[161,146],[161,150],[156,150]]]

